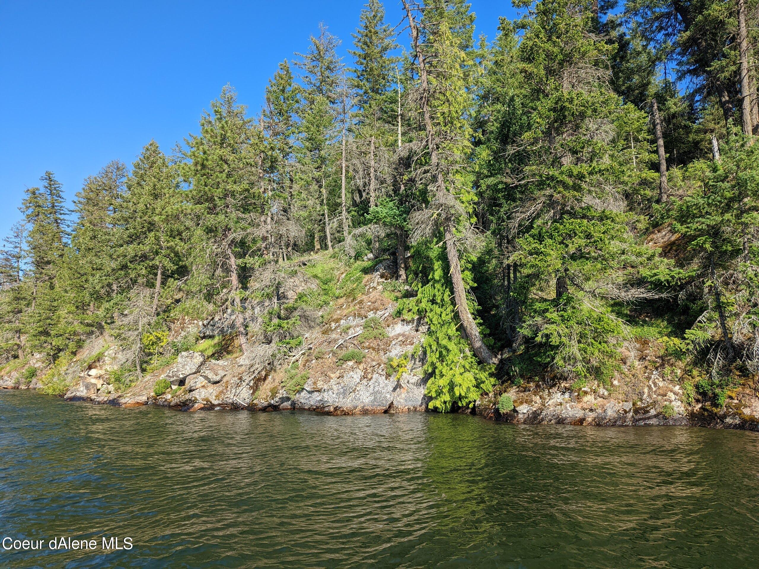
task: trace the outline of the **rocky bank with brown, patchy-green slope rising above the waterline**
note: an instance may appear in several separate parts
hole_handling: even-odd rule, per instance
[[[387,272],[388,274],[385,274]],[[321,413],[402,413],[427,410],[422,339],[427,328],[417,319],[395,316],[395,302],[383,291],[392,271],[379,266],[364,281],[366,291],[354,300],[302,313],[302,344],[279,350],[276,342],[255,344],[248,354],[208,357],[182,351],[162,369],[147,373],[119,390],[118,370],[130,354],[107,336],[94,338],[63,369],[58,381],[68,401],[90,401],[118,407],[156,404],[184,411],[243,409],[310,410]],[[313,283],[304,275],[291,278],[282,297],[292,299]],[[271,300],[248,307],[250,325],[269,310]],[[231,313],[204,322],[175,322],[172,340],[187,335],[219,338],[232,327]],[[690,425],[759,431],[759,382],[742,382],[724,407],[699,401],[677,380],[676,363],[650,344],[628,346],[623,372],[611,385],[575,386],[528,383],[483,395],[474,413],[488,420],[518,424],[594,426]],[[45,369],[36,354],[26,368]],[[674,376],[673,376],[674,374]],[[162,382],[162,383],[159,383]],[[165,385],[165,389],[156,385]],[[0,375],[0,388],[42,388],[39,377],[18,367]],[[502,398],[510,408],[499,410]]]

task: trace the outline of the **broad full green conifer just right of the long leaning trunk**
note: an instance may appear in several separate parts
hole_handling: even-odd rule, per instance
[[[630,134],[641,138],[644,120],[603,80],[610,50],[589,33],[590,2],[574,6],[542,0],[518,22],[530,122],[514,141],[522,156],[508,182],[521,203],[508,259],[519,267],[520,329],[537,360],[559,376],[606,380],[624,335],[609,300],[651,295],[641,269],[653,252],[636,244],[619,203],[641,176]]]

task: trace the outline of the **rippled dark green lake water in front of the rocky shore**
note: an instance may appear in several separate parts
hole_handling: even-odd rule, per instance
[[[0,528],[45,540],[11,568],[757,567],[759,435],[0,391]]]

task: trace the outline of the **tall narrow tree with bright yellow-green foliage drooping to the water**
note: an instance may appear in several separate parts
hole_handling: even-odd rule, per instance
[[[475,393],[492,385],[484,364],[497,362],[485,345],[480,329],[472,316],[473,299],[467,289],[473,285],[469,259],[462,262],[459,247],[468,237],[472,205],[476,195],[470,180],[461,168],[471,152],[470,126],[466,117],[473,102],[467,86],[471,84],[471,35],[473,17],[462,14],[460,3],[427,6],[421,23],[414,9],[404,1],[411,30],[419,82],[416,97],[424,126],[425,161],[415,173],[420,199],[427,207],[411,218],[412,233],[419,242],[414,248],[417,299],[412,303],[416,313],[430,322],[427,369],[433,378],[427,384],[432,395],[430,406],[449,410],[452,406],[469,407]],[[422,30],[424,26],[424,39]],[[446,265],[441,252],[430,247],[439,235],[446,244]],[[448,272],[448,275],[446,275]],[[451,291],[453,294],[449,294]],[[455,298],[455,304],[449,300]],[[457,330],[452,314],[466,341]],[[476,358],[469,353],[469,346]]]

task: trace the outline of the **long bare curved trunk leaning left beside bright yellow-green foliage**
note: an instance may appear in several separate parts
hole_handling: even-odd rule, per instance
[[[403,0],[403,7],[408,16],[408,25],[411,28],[411,39],[414,44],[414,52],[416,52],[417,61],[419,62],[419,79],[421,83],[420,107],[424,117],[424,130],[427,134],[427,148],[430,150],[430,169],[435,175],[436,192],[443,198],[440,201],[445,203],[448,201],[445,199],[447,197],[447,190],[445,178],[443,177],[442,164],[438,156],[437,139],[433,127],[432,116],[430,114],[430,105],[428,101],[430,83],[427,77],[427,65],[424,52],[420,49],[419,27],[414,16],[411,14],[411,7],[408,5],[407,0]],[[498,358],[493,355],[493,352],[491,352],[482,341],[480,329],[477,328],[477,323],[474,322],[474,318],[472,317],[471,312],[469,312],[466,286],[464,284],[464,278],[461,276],[461,262],[458,259],[458,247],[456,247],[454,228],[455,222],[453,220],[446,219],[443,221],[442,231],[446,240],[446,254],[448,256],[448,264],[451,268],[451,281],[453,284],[453,294],[456,300],[458,318],[461,320],[461,325],[464,328],[472,350],[474,350],[474,354],[477,354],[477,357],[484,363],[498,363]]]

